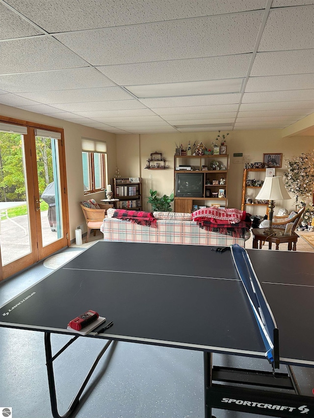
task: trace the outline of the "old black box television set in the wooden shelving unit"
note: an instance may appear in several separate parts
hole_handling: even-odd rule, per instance
[[[203,197],[204,174],[176,173],[176,196],[177,197]]]

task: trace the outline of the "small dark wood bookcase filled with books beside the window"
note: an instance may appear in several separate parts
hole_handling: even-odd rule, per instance
[[[142,210],[142,178],[130,181],[130,178],[113,178],[113,197],[116,209]]]

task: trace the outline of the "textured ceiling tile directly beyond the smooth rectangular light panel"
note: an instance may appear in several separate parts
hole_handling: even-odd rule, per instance
[[[240,94],[186,96],[169,98],[142,98],[140,101],[150,108],[155,107],[179,107],[179,106],[206,106],[210,104],[238,103]]]

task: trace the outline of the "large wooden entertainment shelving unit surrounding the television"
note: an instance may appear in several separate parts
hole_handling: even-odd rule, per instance
[[[199,173],[204,175],[202,197],[174,198],[175,212],[193,212],[193,206],[212,206],[219,204],[227,207],[228,202],[228,154],[217,155],[175,155],[174,156],[174,190],[176,192],[176,176],[178,173]],[[217,164],[218,163],[218,164]],[[192,170],[176,170],[180,165],[191,166]],[[219,169],[219,170],[218,170]],[[218,183],[218,184],[213,184]],[[219,190],[224,191],[224,197],[218,197]],[[217,195],[215,195],[217,194]]]

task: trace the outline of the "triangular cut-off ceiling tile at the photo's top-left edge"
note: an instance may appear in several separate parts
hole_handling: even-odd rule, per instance
[[[0,3],[0,39],[20,38],[43,33],[42,30],[36,29]]]

